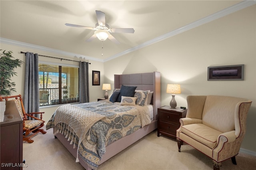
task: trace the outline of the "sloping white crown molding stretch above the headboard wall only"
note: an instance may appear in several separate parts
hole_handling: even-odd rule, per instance
[[[153,43],[160,42],[160,41],[162,41],[162,40],[165,40],[166,38],[170,38],[170,37],[172,37],[172,36],[176,36],[177,34],[180,34],[180,33],[182,33],[182,32],[191,30],[191,29],[193,29],[193,28],[196,28],[196,27],[201,26],[201,25],[203,25],[203,24],[206,24],[206,23],[208,23],[208,22],[217,20],[217,19],[219,19],[219,18],[222,18],[222,17],[224,17],[224,16],[227,16],[227,15],[229,15],[229,14],[232,14],[232,13],[234,13],[234,12],[237,12],[237,11],[239,11],[239,10],[242,10],[242,9],[244,9],[244,8],[247,8],[247,7],[252,6],[252,5],[255,5],[255,4],[256,4],[256,0],[245,0],[245,1],[243,1],[243,2],[240,2],[240,3],[238,3],[238,4],[235,4],[235,5],[233,5],[233,6],[230,6],[230,7],[226,8],[226,9],[224,9],[224,10],[221,10],[221,11],[219,11],[219,12],[216,12],[216,13],[210,15],[210,16],[207,16],[207,17],[205,17],[205,18],[202,18],[202,19],[200,19],[200,20],[197,20],[197,21],[195,21],[195,22],[192,22],[192,23],[190,23],[190,24],[188,24],[188,25],[186,25],[186,26],[183,26],[183,27],[181,27],[181,28],[178,28],[178,29],[176,29],[176,30],[173,30],[173,31],[171,31],[171,32],[168,32],[168,33],[166,33],[166,34],[164,34],[164,35],[162,35],[162,36],[156,37],[156,38],[154,38],[154,39],[152,39],[152,40],[149,40],[149,41],[147,41],[147,42],[144,42],[144,43],[142,43],[142,44],[140,44],[140,45],[137,45],[137,46],[135,46],[135,47],[132,47],[132,48],[130,48],[130,49],[127,49],[126,51],[122,51],[121,53],[117,53],[117,54],[115,54],[115,55],[112,55],[111,57],[109,57],[109,58],[107,58],[107,59],[104,59],[104,62],[105,62],[105,61],[110,61],[110,60],[112,60],[112,59],[115,59],[115,58],[117,58],[117,57],[120,57],[120,56],[125,55],[125,54],[128,54],[128,53],[131,53],[131,52],[133,52],[133,51],[136,51],[136,50],[138,50],[138,49],[141,49],[141,48],[146,47],[146,46],[148,46],[148,45],[151,45],[151,44],[153,44]]]

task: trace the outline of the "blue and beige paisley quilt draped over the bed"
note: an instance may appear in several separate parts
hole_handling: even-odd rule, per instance
[[[68,128],[67,123],[56,122],[56,119],[54,119],[59,114],[57,110],[48,121],[46,129],[58,125],[58,129],[62,129],[62,134],[71,141],[70,144],[75,144],[78,147],[78,154],[92,169],[97,169],[108,144],[138,130],[142,127],[142,124],[150,123],[148,121],[146,123],[141,122],[147,119],[147,116],[145,115],[146,111],[139,106],[119,105],[109,101],[82,103],[73,106],[104,116],[90,127],[79,147],[78,141],[80,139],[78,135]],[[141,117],[144,118],[141,119]]]

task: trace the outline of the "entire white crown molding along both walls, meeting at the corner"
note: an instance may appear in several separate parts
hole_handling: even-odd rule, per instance
[[[38,45],[33,45],[33,44],[29,44],[29,43],[23,43],[23,42],[18,42],[18,41],[14,41],[14,40],[8,40],[5,38],[0,38],[0,42],[1,43],[6,43],[6,44],[10,44],[10,45],[16,45],[16,46],[20,46],[20,47],[26,47],[26,48],[30,48],[30,49],[36,49],[36,50],[40,50],[40,51],[46,51],[46,52],[50,52],[50,53],[57,53],[57,54],[61,54],[61,55],[66,55],[66,56],[70,56],[70,57],[82,57],[84,59],[88,59],[88,60],[92,60],[92,61],[100,61],[100,62],[106,62],[106,61],[110,61],[112,59],[115,59],[117,57],[120,57],[122,55],[131,53],[133,51],[136,51],[138,49],[141,49],[143,47],[146,47],[148,45],[154,44],[156,42],[160,42],[162,40],[165,40],[167,38],[170,38],[172,36],[176,36],[182,32],[186,32],[188,30],[191,30],[193,28],[196,28],[198,26],[201,26],[203,24],[206,24],[208,22],[212,22],[214,20],[217,20],[219,18],[222,18],[224,16],[227,16],[229,14],[232,14],[234,12],[237,12],[239,10],[242,10],[244,8],[247,8],[249,6],[255,5],[256,4],[256,0],[245,0],[243,2],[240,2],[236,5],[230,6],[224,10],[221,10],[219,12],[216,12],[210,16],[207,16],[205,18],[202,18],[200,20],[197,20],[195,22],[192,22],[186,26],[183,26],[181,28],[178,28],[176,30],[173,30],[171,32],[168,32],[162,36],[156,37],[152,40],[149,40],[147,42],[144,42],[140,45],[137,45],[135,47],[132,47],[130,49],[127,49],[125,51],[122,51],[121,53],[117,53],[115,55],[112,55],[111,57],[107,58],[107,59],[97,59],[94,57],[89,57],[89,56],[85,56],[85,55],[80,55],[80,54],[76,54],[76,53],[70,53],[70,52],[66,52],[66,51],[61,51],[58,49],[52,49],[52,48],[48,48],[48,47],[42,47],[42,46],[38,46]]]

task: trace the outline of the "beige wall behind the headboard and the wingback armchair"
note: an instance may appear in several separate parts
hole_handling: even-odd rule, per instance
[[[256,152],[256,5],[104,63],[113,74],[159,71],[161,105],[169,105],[168,83],[181,84],[177,106],[188,95],[227,95],[252,100],[242,148]],[[207,67],[244,64],[244,81],[207,81]],[[111,68],[111,69],[110,69]],[[111,91],[112,92],[112,91]]]

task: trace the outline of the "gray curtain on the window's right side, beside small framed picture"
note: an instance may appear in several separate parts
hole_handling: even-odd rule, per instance
[[[79,62],[79,87],[80,87],[80,103],[89,102],[89,69],[88,62]]]

